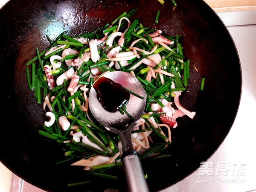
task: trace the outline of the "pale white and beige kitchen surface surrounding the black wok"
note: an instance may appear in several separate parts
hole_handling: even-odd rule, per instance
[[[221,9],[219,7],[226,6],[227,1],[224,0],[205,0],[209,5],[212,5],[216,12]],[[219,3],[217,3],[219,1]],[[0,0],[0,8],[7,0]],[[229,1],[232,2],[232,1]],[[233,5],[239,8],[241,4],[235,3],[243,2],[245,6],[250,6],[249,10],[255,9],[256,0],[233,0]],[[222,4],[221,4],[222,3]],[[230,4],[229,4],[230,5]],[[244,7],[244,6],[243,6]],[[248,8],[248,7],[247,7]],[[237,9],[236,9],[237,10]],[[243,10],[243,9],[241,9]],[[248,10],[248,9],[247,9]],[[241,60],[241,68],[243,74],[243,89],[241,96],[241,104],[236,117],[236,120],[231,128],[231,131],[221,147],[210,158],[212,161],[234,161],[244,160],[247,163],[246,181],[247,183],[220,183],[218,185],[209,183],[202,184],[197,183],[198,172],[186,177],[183,181],[175,184],[166,192],[176,191],[190,191],[190,192],[246,192],[256,191],[255,173],[256,173],[256,153],[255,146],[255,134],[256,127],[254,119],[256,117],[256,11],[249,12],[230,12],[218,13],[219,17],[224,21],[227,26],[233,40],[236,44],[239,57]],[[241,132],[246,137],[241,137]],[[248,148],[248,146],[250,146]],[[249,152],[250,151],[250,152]],[[18,183],[11,185],[13,179]],[[29,183],[19,180],[19,177],[12,175],[12,172],[7,169],[2,163],[0,163],[0,192],[41,192],[41,189],[37,189],[31,186]],[[23,188],[20,188],[20,184],[23,184]]]

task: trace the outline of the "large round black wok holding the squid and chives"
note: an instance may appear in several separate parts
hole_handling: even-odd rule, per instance
[[[131,20],[183,35],[184,55],[191,61],[191,78],[184,107],[196,111],[194,119],[182,118],[172,129],[170,158],[143,163],[151,191],[173,185],[194,172],[227,136],[239,106],[241,69],[236,47],[226,27],[202,0],[10,0],[0,10],[0,64],[2,67],[2,128],[0,160],[12,172],[47,191],[125,191],[122,169],[119,180],[96,180],[68,187],[89,177],[81,167],[55,165],[63,159],[58,143],[38,134],[46,117],[29,91],[26,62],[36,47],[49,47],[46,35],[56,38],[68,30],[74,36],[104,26],[122,12],[136,8]],[[154,23],[160,10],[159,23]],[[196,65],[198,72],[194,69]],[[205,77],[204,90],[200,80]]]

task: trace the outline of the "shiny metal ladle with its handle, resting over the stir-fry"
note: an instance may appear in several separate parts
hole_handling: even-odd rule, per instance
[[[145,90],[140,81],[130,73],[113,71],[106,73],[103,76],[121,84],[122,87],[125,87],[137,95],[144,97],[144,99],[141,99],[130,94],[130,98],[126,104],[126,111],[134,117],[131,119],[128,115],[122,114],[119,111],[109,112],[105,110],[96,96],[96,90],[92,86],[89,93],[89,108],[99,123],[101,123],[108,131],[118,134],[121,139],[121,158],[128,190],[130,192],[149,192],[140,157],[138,156],[137,151],[134,151],[131,142],[131,129],[137,125],[137,120],[140,119],[145,109],[147,97]]]

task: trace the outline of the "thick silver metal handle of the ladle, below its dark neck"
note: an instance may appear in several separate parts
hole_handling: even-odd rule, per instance
[[[148,184],[137,154],[128,154],[122,159],[129,192],[149,192]]]

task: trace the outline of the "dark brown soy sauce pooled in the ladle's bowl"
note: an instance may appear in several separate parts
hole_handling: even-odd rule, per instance
[[[119,111],[130,99],[130,93],[120,83],[104,76],[94,82],[93,88],[102,107],[109,112]]]

